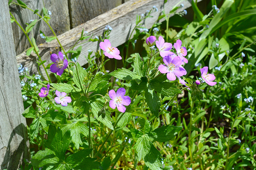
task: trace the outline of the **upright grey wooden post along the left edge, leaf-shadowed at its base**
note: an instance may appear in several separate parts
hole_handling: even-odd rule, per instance
[[[6,0],[0,0],[0,169],[16,170],[29,159],[29,141]]]

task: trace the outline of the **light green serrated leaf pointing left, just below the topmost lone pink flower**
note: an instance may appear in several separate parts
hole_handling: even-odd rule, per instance
[[[130,70],[127,70],[126,68],[121,68],[121,69],[118,68],[117,70],[109,73],[109,75],[114,76],[120,80],[135,80],[135,79],[140,80],[140,76],[136,75]]]

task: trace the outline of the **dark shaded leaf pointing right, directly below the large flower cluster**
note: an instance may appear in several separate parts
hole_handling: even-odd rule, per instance
[[[182,93],[177,86],[173,86],[173,83],[170,82],[162,82],[162,83],[149,83],[149,85],[154,89],[156,92],[164,95],[164,96],[175,96],[179,93]]]

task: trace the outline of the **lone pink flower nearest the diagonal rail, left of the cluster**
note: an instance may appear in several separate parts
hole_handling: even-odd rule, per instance
[[[105,51],[104,55],[108,58],[116,58],[117,60],[122,59],[119,55],[120,51],[116,47],[111,47],[111,43],[107,39],[105,39],[104,42],[100,42],[100,49]]]

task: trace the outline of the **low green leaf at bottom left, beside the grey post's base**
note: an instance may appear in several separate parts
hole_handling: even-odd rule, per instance
[[[56,166],[59,164],[60,159],[50,149],[45,148],[44,151],[38,151],[30,161],[31,165],[41,167]]]

